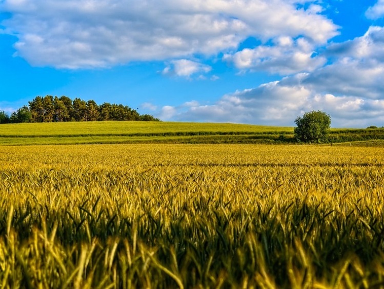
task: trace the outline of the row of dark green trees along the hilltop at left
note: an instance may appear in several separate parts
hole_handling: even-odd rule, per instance
[[[135,109],[108,102],[74,100],[62,96],[36,97],[11,115],[0,111],[0,123],[25,122],[81,122],[81,121],[160,121],[150,114],[139,114]]]

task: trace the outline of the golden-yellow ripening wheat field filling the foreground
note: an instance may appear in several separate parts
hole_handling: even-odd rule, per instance
[[[0,282],[380,288],[383,156],[363,145],[3,145]]]

